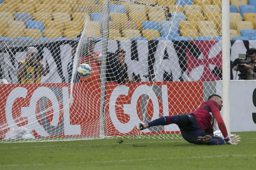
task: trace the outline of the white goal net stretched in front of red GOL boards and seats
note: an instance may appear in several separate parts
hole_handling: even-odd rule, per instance
[[[222,91],[221,0],[4,0],[0,142],[182,138]],[[77,75],[81,63],[89,78]],[[217,127],[215,127],[217,128]]]

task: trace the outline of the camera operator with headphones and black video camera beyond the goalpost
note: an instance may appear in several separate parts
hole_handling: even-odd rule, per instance
[[[256,49],[250,48],[246,51],[246,60],[236,58],[232,67],[235,71],[240,71],[241,80],[256,80]]]

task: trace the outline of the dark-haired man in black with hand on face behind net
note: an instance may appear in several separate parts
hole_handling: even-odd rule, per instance
[[[117,49],[114,56],[108,58],[107,81],[117,83],[134,83],[134,79],[129,79],[127,64],[124,62],[125,51]]]

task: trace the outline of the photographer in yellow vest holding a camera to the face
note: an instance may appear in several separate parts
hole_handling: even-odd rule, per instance
[[[19,61],[18,83],[40,83],[41,76],[49,73],[48,66],[47,69],[44,68],[35,47],[28,47],[26,55],[26,59]]]

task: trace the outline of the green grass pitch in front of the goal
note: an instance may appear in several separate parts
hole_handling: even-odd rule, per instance
[[[235,134],[236,146],[127,138],[0,144],[0,169],[256,169],[256,131]]]

